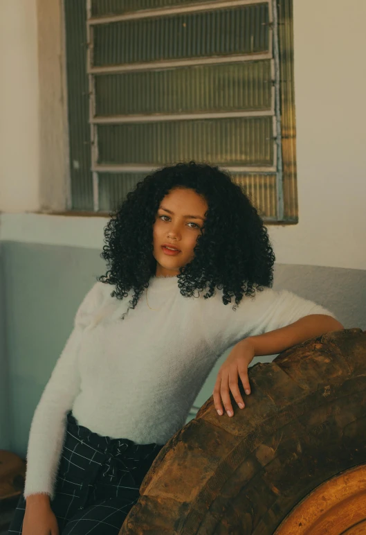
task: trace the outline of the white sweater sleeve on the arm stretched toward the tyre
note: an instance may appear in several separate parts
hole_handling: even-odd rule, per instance
[[[335,317],[327,308],[287,290],[264,288],[262,292],[256,292],[255,297],[243,297],[237,310],[232,310],[233,299],[231,304],[224,305],[221,292],[215,297],[219,299],[213,307],[212,340],[217,344],[219,355],[248,336],[275,331],[304,316],[324,314]]]

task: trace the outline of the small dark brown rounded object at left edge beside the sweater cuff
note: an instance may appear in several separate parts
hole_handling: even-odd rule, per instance
[[[19,495],[25,475],[26,463],[15,453],[0,450],[0,500]]]

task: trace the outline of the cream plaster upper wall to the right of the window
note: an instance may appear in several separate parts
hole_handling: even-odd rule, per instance
[[[279,263],[366,269],[366,1],[293,0],[299,223]]]

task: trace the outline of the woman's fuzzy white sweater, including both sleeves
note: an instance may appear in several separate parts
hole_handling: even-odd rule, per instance
[[[210,299],[183,297],[177,277],[152,277],[134,310],[95,283],[75,315],[30,428],[24,495],[53,497],[66,413],[81,426],[138,444],[165,444],[187,414],[217,358],[248,335],[328,310],[291,292],[266,288],[237,310],[222,290]],[[130,295],[132,295],[132,291]]]

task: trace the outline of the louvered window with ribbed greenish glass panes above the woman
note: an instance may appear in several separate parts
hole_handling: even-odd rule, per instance
[[[65,0],[71,209],[194,159],[296,221],[291,3]]]

